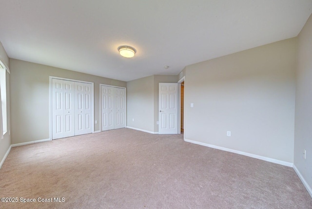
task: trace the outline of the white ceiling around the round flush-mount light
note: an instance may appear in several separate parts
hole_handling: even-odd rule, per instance
[[[295,37],[312,0],[0,0],[0,8],[10,58],[131,81]],[[136,56],[121,57],[120,45]]]

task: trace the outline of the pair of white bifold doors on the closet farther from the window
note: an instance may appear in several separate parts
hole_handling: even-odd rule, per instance
[[[102,131],[126,127],[126,90],[102,85]]]

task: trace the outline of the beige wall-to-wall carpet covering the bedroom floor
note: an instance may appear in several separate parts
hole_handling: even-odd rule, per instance
[[[312,209],[291,167],[127,128],[13,147],[0,197],[23,209]]]

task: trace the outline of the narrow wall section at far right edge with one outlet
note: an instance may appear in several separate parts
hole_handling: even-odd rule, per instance
[[[298,36],[294,165],[310,186],[312,195],[312,16]],[[306,159],[303,150],[306,149]]]

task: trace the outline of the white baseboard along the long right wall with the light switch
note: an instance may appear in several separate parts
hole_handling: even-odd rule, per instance
[[[225,147],[222,147],[222,146],[210,145],[210,144],[206,144],[206,143],[203,143],[203,142],[196,142],[196,141],[189,140],[189,139],[184,139],[184,141],[185,142],[190,142],[190,143],[193,143],[193,144],[196,144],[196,145],[208,146],[208,147],[211,147],[211,148],[220,149],[220,150],[227,151],[227,152],[233,152],[233,153],[236,153],[236,154],[245,155],[245,156],[248,156],[248,157],[252,157],[252,158],[259,159],[259,160],[268,161],[268,162],[271,162],[271,163],[276,163],[276,164],[287,166],[287,167],[292,167],[293,166],[292,163],[289,163],[289,162],[286,162],[286,161],[281,161],[281,160],[276,160],[276,159],[273,159],[273,158],[263,157],[263,156],[260,156],[260,155],[255,155],[255,154],[251,154],[251,153],[248,153],[248,152],[242,152],[242,151],[238,151],[238,150],[235,150],[235,149],[229,149],[229,148],[225,148]]]

